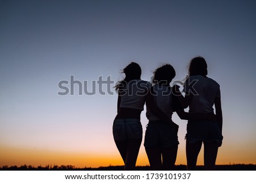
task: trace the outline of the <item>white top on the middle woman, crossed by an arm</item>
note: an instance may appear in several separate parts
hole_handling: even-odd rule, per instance
[[[169,119],[172,118],[172,94],[171,89],[167,88],[167,86],[164,85],[154,85],[153,86],[154,92],[154,102],[155,105],[158,107],[159,110],[161,110],[164,114],[167,115]],[[147,105],[146,105],[147,106]],[[150,109],[146,111],[146,116],[149,121],[157,121],[159,120],[158,117],[156,117]]]

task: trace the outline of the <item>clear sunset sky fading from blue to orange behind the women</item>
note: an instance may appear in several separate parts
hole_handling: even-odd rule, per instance
[[[90,92],[100,76],[121,79],[131,61],[144,80],[163,63],[183,80],[198,55],[221,85],[217,164],[256,164],[255,32],[253,0],[0,1],[0,166],[123,165],[112,136],[117,94],[102,96],[96,85],[79,96],[75,85],[74,96],[59,96],[59,81],[74,76]],[[186,164],[187,122],[173,119],[176,164]],[[146,124],[143,111],[143,132]],[[149,165],[143,143],[137,165]]]

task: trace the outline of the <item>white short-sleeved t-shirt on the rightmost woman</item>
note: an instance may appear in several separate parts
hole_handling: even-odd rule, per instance
[[[189,76],[183,92],[193,94],[189,113],[213,113],[216,97],[221,97],[220,85],[212,78],[201,75]]]

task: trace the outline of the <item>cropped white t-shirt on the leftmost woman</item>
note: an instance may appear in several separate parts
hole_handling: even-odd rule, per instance
[[[121,93],[120,107],[144,110],[147,90],[150,82],[144,80],[131,80],[119,92]]]

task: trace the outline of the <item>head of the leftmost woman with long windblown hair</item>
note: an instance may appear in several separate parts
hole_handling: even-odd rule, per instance
[[[123,88],[131,80],[141,79],[141,67],[138,63],[131,62],[123,68],[122,73],[125,73],[125,78],[115,85],[115,90]]]

